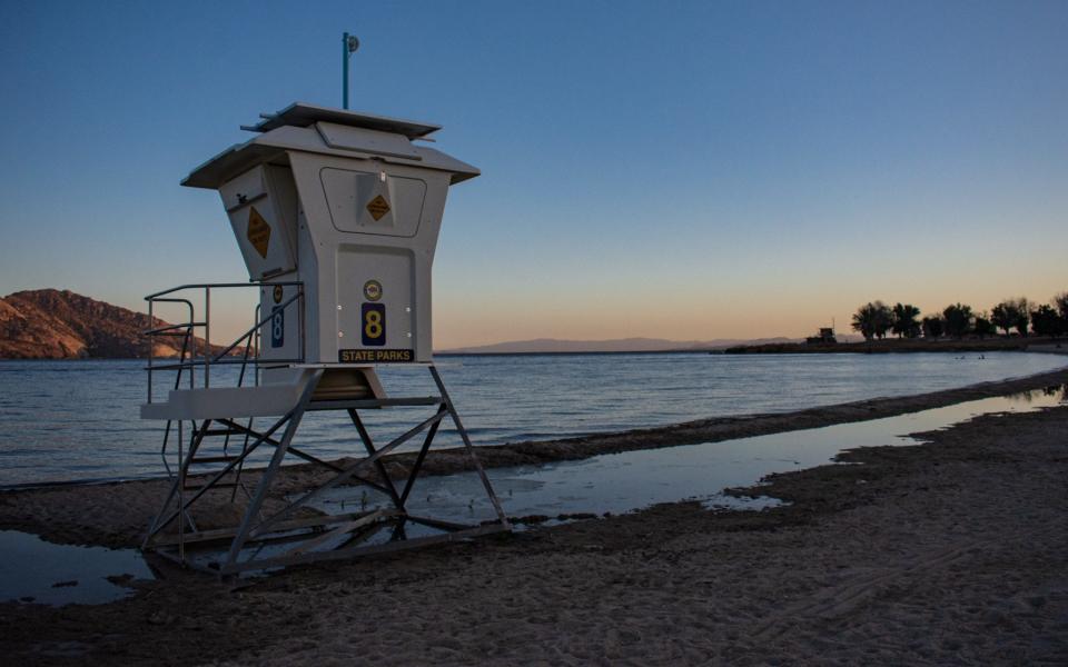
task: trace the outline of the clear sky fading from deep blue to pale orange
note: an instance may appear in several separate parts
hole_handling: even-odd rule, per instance
[[[438,349],[1068,289],[1065,1],[2,0],[0,292],[246,279],[178,181],[261,111],[340,106],[344,30],[353,108],[483,170],[449,193]]]

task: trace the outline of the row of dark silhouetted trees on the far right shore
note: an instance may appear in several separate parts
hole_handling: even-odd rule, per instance
[[[888,334],[898,338],[963,338],[997,336],[998,330],[1010,336],[1016,331],[1027,336],[1068,335],[1068,292],[1055,296],[1049,303],[1035,305],[1026,298],[1006,299],[989,312],[975,312],[971,306],[951,303],[940,313],[920,319],[920,309],[911,303],[887,306],[871,301],[857,309],[853,330],[867,340],[883,339]]]

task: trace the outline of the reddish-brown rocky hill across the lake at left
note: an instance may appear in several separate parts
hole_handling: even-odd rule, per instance
[[[155,318],[154,327],[167,326]],[[148,316],[69,290],[21,291],[0,299],[0,358],[130,359],[145,357]],[[159,342],[155,355],[178,356],[181,341]],[[197,349],[204,341],[197,339]]]

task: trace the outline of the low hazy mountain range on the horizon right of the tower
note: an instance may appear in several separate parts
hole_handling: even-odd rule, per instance
[[[680,350],[716,350],[739,345],[798,342],[797,338],[716,338],[713,340],[668,340],[665,338],[616,338],[610,340],[560,340],[535,338],[494,345],[438,350],[444,355],[530,355],[575,352],[666,352]]]

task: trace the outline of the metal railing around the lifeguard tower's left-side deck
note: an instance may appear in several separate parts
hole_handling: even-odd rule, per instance
[[[291,295],[289,298],[279,301],[279,303],[274,307],[270,315],[267,317],[261,317],[259,305],[256,306],[254,321],[255,323],[246,330],[244,334],[237,337],[234,342],[224,347],[219,351],[212,350],[211,345],[211,290],[218,289],[256,289],[259,290],[264,287],[269,288],[287,288],[296,287],[296,293]],[[204,306],[202,318],[198,321],[196,308],[194,301],[197,300],[195,297],[189,297],[189,291],[199,291],[202,290],[202,300],[200,303]],[[181,293],[186,292],[186,293]],[[179,296],[180,295],[180,296]],[[257,295],[258,296],[258,295]],[[208,388],[211,386],[211,368],[214,366],[234,366],[240,365],[240,372],[238,374],[237,386],[244,386],[246,372],[249,365],[255,369],[255,382],[259,384],[259,369],[261,365],[283,365],[283,364],[303,364],[305,359],[305,327],[304,327],[304,315],[305,315],[305,302],[304,302],[304,283],[303,282],[215,282],[215,283],[199,283],[199,285],[181,285],[178,287],[172,287],[170,289],[158,291],[145,297],[145,300],[148,301],[148,326],[149,329],[145,330],[142,334],[146,337],[148,344],[148,366],[145,367],[145,370],[148,371],[148,402],[152,402],[152,386],[154,386],[154,376],[159,371],[175,371],[175,382],[174,389],[178,389],[182,386],[182,377],[187,375],[188,387],[190,389],[197,386],[196,375],[197,369],[202,370],[202,386]],[[184,323],[179,325],[161,325],[156,326],[156,307],[161,303],[180,303],[185,305],[188,310],[188,319]],[[298,349],[300,354],[295,358],[277,358],[270,357],[268,359],[260,358],[260,331],[265,326],[275,320],[281,312],[283,321],[287,317],[290,317],[286,311],[289,309],[296,310],[296,319],[298,327]],[[291,312],[291,310],[290,310]],[[200,349],[200,355],[198,356],[198,332],[204,334],[202,345]],[[181,339],[181,345],[170,346],[172,348],[178,348],[178,358],[172,360],[167,359],[164,364],[157,364],[156,359],[156,345],[159,339],[172,340],[175,338]],[[244,346],[244,347],[243,347]],[[217,347],[217,346],[216,346]],[[240,351],[237,351],[240,350]]]

